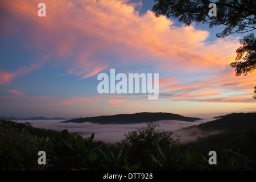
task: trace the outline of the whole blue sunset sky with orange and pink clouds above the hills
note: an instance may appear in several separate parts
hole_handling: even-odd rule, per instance
[[[235,76],[241,35],[156,18],[154,0],[0,0],[0,115],[93,117],[256,111],[256,74]],[[39,3],[46,16],[39,17]],[[159,97],[100,94],[100,73],[158,73]],[[116,81],[117,83],[118,81]]]

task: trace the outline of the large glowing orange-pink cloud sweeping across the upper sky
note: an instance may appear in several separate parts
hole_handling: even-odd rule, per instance
[[[194,26],[176,27],[165,16],[155,18],[152,11],[140,15],[127,1],[49,1],[47,16],[37,16],[40,1],[6,1],[1,9],[14,14],[28,32],[27,46],[58,56],[71,66],[72,73],[87,78],[109,65],[146,62],[162,69],[217,68],[234,59],[237,39],[207,43],[209,32]],[[141,2],[140,2],[141,3]],[[139,5],[139,4],[138,4]],[[25,24],[34,26],[24,26]],[[3,27],[10,25],[6,20]],[[19,24],[20,25],[20,24]],[[14,29],[14,28],[13,28]],[[118,57],[118,61],[111,56]],[[106,59],[110,57],[110,59]],[[150,59],[147,59],[150,57]],[[182,63],[182,67],[180,64]]]

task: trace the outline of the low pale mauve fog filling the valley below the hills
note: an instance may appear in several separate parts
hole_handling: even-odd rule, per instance
[[[219,134],[222,131],[211,131],[209,133],[201,133],[197,128],[192,128],[189,130],[183,130],[185,127],[199,125],[200,123],[205,123],[213,121],[214,118],[201,119],[195,122],[186,121],[158,121],[159,127],[156,127],[160,131],[172,131],[174,133],[173,138],[176,135],[180,135],[180,142],[190,142],[196,140],[197,137],[202,137],[203,135],[209,134]],[[67,129],[69,133],[79,134],[84,138],[90,137],[94,133],[94,140],[101,140],[102,142],[114,144],[115,142],[124,138],[124,134],[128,134],[130,131],[137,130],[142,127],[146,127],[147,123],[133,123],[133,124],[108,124],[101,125],[98,123],[62,123],[61,120],[29,120],[29,121],[17,121],[19,123],[29,122],[33,127],[42,129],[53,129],[61,131]]]

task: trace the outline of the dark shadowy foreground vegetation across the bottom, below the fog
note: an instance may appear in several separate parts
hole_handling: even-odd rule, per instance
[[[256,130],[227,131],[181,144],[157,123],[125,134],[113,146],[72,135],[68,130],[36,129],[30,123],[0,121],[0,170],[255,170]],[[210,165],[208,152],[217,152]],[[46,152],[46,165],[38,152]]]

